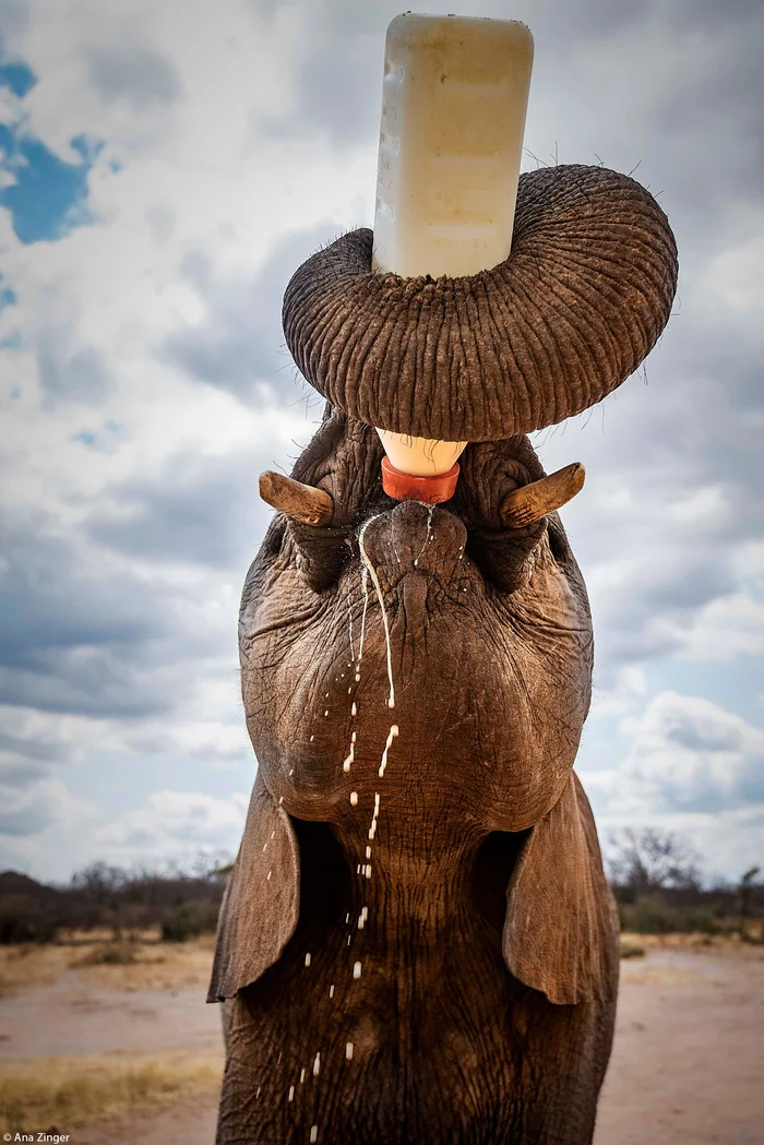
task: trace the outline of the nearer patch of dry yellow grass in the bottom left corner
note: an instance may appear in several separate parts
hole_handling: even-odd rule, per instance
[[[151,1110],[220,1084],[214,1055],[38,1058],[0,1068],[0,1130],[58,1132]]]

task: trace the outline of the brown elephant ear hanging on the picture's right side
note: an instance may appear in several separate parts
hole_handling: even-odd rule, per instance
[[[575,774],[531,829],[507,890],[504,961],[550,1002],[613,1002],[619,921],[594,819]]]

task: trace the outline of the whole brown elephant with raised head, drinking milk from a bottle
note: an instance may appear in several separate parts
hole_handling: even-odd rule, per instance
[[[371,273],[356,231],[284,299],[328,398],[244,585],[259,772],[220,915],[219,1145],[584,1145],[617,916],[573,772],[592,630],[525,436],[620,385],[663,329],[674,237],[604,168],[523,175],[512,253]],[[468,441],[444,504],[389,497],[376,428]]]

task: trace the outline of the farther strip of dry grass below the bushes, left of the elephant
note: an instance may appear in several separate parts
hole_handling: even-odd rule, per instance
[[[214,938],[188,942],[62,942],[0,947],[0,993],[45,986],[74,971],[86,985],[112,990],[165,990],[203,986],[212,966]]]

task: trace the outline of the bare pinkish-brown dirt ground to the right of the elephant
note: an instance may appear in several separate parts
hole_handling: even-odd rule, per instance
[[[653,949],[621,973],[594,1145],[764,1145],[764,960]]]

